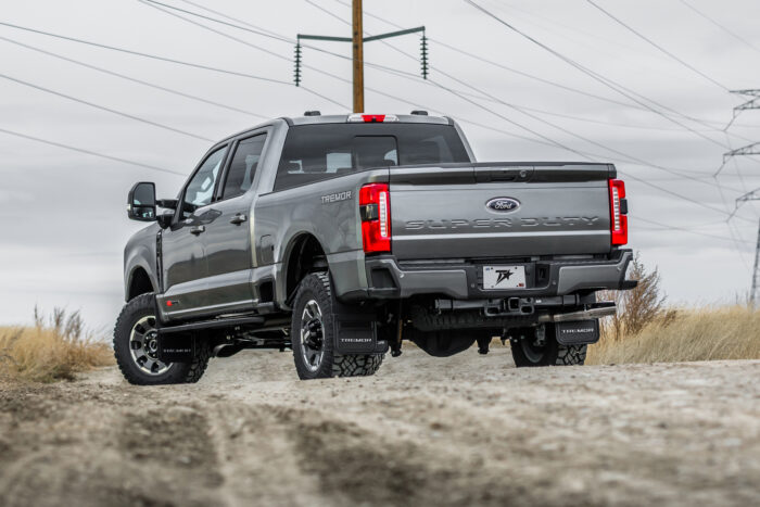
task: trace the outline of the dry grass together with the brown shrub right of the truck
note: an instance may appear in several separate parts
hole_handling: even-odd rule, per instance
[[[586,364],[675,363],[760,359],[760,312],[747,306],[668,308],[657,269],[638,255],[629,278],[632,291],[607,292],[618,315],[601,321],[601,338],[588,347]]]

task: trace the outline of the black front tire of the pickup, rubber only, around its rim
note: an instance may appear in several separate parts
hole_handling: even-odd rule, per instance
[[[145,373],[135,364],[129,348],[132,327],[140,319],[149,316],[155,317],[155,297],[152,293],[138,295],[130,300],[124,305],[118,319],[116,319],[113,341],[114,355],[124,378],[136,385],[198,382],[203,377],[211,358],[211,347],[205,340],[197,340],[192,362],[174,363],[167,371],[161,375]]]

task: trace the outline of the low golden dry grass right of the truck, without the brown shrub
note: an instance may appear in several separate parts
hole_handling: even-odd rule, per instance
[[[607,331],[586,364],[760,359],[760,312],[745,306],[670,310],[636,333]]]

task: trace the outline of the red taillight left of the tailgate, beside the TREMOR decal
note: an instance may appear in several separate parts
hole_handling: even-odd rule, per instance
[[[391,192],[388,183],[365,185],[359,190],[362,245],[365,253],[391,251]]]

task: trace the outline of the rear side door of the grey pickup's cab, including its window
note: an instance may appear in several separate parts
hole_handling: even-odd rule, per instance
[[[266,131],[259,131],[235,142],[218,200],[210,206],[214,218],[201,235],[207,265],[205,304],[217,314],[253,309],[251,214],[266,139]]]

